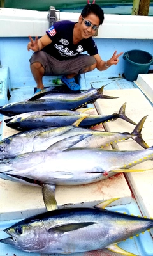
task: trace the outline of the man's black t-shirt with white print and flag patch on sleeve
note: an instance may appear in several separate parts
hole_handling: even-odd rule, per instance
[[[73,29],[75,22],[62,20],[55,22],[47,31],[52,43],[42,49],[57,60],[66,60],[87,51],[89,55],[98,54],[94,40],[90,37],[82,39],[78,44],[73,44]]]

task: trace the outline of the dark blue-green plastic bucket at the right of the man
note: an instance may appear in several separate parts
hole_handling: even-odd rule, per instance
[[[123,59],[126,60],[123,76],[129,81],[136,80],[138,74],[147,74],[150,65],[153,63],[152,55],[149,52],[142,50],[125,52]]]

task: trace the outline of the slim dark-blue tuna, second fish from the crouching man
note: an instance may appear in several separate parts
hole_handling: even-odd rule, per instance
[[[112,115],[91,115],[89,113],[85,113],[84,109],[80,109],[80,111],[34,111],[29,113],[22,113],[4,121],[8,127],[17,129],[18,131],[27,131],[40,127],[72,125],[75,121],[83,117],[84,120],[80,122],[80,127],[92,127],[94,125],[102,124],[110,120],[116,120],[117,118],[122,118],[127,122],[136,125],[135,122],[126,116],[125,108],[126,103],[121,106],[119,113],[113,113]]]

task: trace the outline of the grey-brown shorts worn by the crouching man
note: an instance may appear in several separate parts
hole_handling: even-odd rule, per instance
[[[50,56],[46,52],[38,51],[34,52],[33,56],[29,60],[30,64],[34,62],[40,62],[45,73],[43,76],[51,75],[68,75],[68,74],[82,74],[85,68],[90,67],[96,63],[96,59],[93,56],[87,54],[79,54],[75,58],[69,58],[68,60],[59,61]]]

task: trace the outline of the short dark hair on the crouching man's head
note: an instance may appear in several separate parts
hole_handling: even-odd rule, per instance
[[[83,18],[85,18],[91,13],[94,13],[96,16],[98,16],[98,18],[100,20],[99,25],[101,25],[104,20],[104,12],[101,9],[101,7],[98,4],[87,4],[87,5],[85,5],[84,9],[82,10],[81,15]]]

